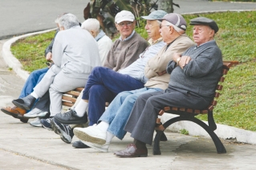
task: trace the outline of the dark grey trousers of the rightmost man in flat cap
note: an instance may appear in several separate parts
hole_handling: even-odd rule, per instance
[[[182,89],[170,89],[169,92],[145,93],[137,98],[124,130],[132,137],[146,144],[152,144],[156,118],[165,106],[177,106],[191,109],[205,109],[210,99],[200,97]]]

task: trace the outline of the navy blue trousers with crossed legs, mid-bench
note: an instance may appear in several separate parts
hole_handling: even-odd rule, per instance
[[[105,111],[105,103],[111,102],[118,93],[144,87],[144,83],[129,75],[117,73],[106,67],[95,67],[83,90],[83,100],[89,100],[89,125],[99,121]]]

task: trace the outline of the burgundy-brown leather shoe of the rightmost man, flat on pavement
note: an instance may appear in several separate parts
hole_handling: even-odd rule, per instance
[[[148,148],[137,148],[135,144],[128,144],[127,148],[115,152],[115,155],[120,157],[147,157]]]

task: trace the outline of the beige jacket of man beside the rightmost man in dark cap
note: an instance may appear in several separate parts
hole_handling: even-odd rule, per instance
[[[169,73],[165,73],[162,76],[158,76],[157,73],[161,73],[166,69],[169,61],[173,60],[173,53],[181,54],[192,45],[194,45],[194,42],[186,34],[174,40],[168,49],[166,49],[167,45],[165,45],[155,57],[148,60],[148,64],[144,69],[144,75],[148,78],[148,81],[144,86],[148,88],[167,89],[170,80]]]

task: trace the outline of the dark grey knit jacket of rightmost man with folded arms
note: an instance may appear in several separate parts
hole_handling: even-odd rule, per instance
[[[170,61],[167,72],[171,73],[169,88],[196,93],[207,99],[212,98],[217,81],[221,76],[222,54],[213,40],[197,47],[193,45],[182,54],[192,58],[184,69],[176,67],[175,61]],[[169,91],[169,89],[166,89]]]

